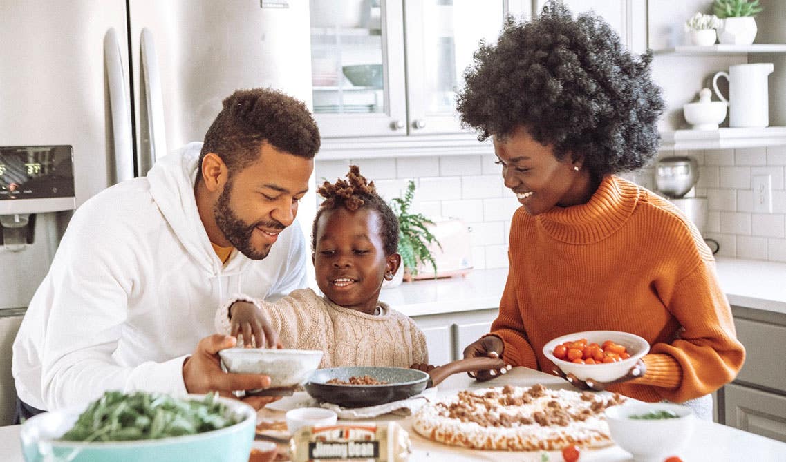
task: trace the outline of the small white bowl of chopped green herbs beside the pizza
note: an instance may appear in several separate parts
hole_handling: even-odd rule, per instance
[[[635,460],[678,455],[693,431],[693,411],[684,405],[628,401],[604,411],[612,439]]]

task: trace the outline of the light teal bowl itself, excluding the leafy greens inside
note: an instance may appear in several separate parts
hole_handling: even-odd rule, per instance
[[[189,394],[187,398],[201,399]],[[27,462],[248,462],[254,441],[256,411],[229,398],[218,398],[238,424],[196,435],[126,442],[57,441],[71,429],[86,405],[42,413],[22,425],[22,455]]]

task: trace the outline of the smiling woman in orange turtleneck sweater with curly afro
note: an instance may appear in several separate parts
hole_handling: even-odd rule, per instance
[[[706,418],[708,394],[744,361],[714,259],[676,207],[615,175],[656,154],[663,100],[651,60],[632,57],[594,14],[573,19],[556,2],[531,22],[508,20],[497,44],[476,52],[458,111],[479,139],[493,138],[522,207],[499,315],[465,357],[564,376],[542,354],[550,339],[631,332],[652,347],[619,383],[567,380],[688,402]]]

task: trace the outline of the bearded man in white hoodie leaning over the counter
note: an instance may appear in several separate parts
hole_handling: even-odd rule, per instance
[[[222,372],[217,352],[236,339],[215,335],[213,317],[232,293],[275,299],[305,286],[295,216],[319,144],[299,101],[238,90],[204,145],[79,207],[13,344],[20,416],[106,390],[268,386]]]

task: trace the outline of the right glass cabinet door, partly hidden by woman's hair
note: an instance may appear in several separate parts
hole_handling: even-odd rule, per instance
[[[481,39],[497,41],[504,0],[405,0],[409,134],[456,133],[457,89]]]

